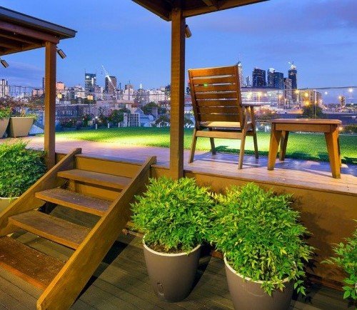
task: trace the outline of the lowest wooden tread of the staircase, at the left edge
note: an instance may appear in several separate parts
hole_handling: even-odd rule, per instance
[[[46,289],[63,266],[64,262],[59,259],[11,237],[0,237],[0,267],[40,289]]]

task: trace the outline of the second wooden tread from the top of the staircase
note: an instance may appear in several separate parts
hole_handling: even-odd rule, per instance
[[[47,189],[35,194],[36,198],[71,209],[103,216],[108,211],[111,201],[98,199],[84,194],[75,193],[66,189]]]

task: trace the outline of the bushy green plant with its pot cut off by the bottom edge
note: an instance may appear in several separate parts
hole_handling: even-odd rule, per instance
[[[224,254],[235,308],[288,309],[294,288],[305,294],[304,262],[313,251],[291,196],[247,184],[215,197],[208,239]]]

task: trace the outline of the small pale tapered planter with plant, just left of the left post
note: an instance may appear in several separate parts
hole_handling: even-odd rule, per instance
[[[29,136],[29,131],[34,124],[36,114],[26,114],[24,109],[19,112],[13,109],[10,118],[9,136],[17,138],[19,136]]]

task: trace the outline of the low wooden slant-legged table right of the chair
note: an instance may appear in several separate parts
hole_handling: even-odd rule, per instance
[[[271,121],[268,170],[274,169],[279,143],[279,159],[281,161],[285,159],[289,131],[320,132],[325,134],[332,176],[333,178],[340,179],[341,154],[338,139],[339,126],[341,126],[341,121],[338,119],[274,119]]]

